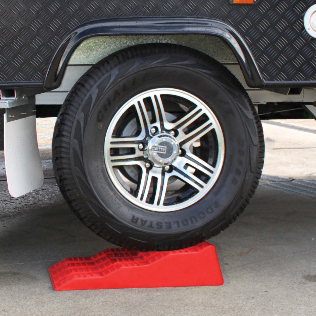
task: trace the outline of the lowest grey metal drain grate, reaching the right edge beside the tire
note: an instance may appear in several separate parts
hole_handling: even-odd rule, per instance
[[[263,183],[262,186],[267,186],[283,192],[302,194],[308,197],[316,198],[316,179],[285,182],[269,181]]]

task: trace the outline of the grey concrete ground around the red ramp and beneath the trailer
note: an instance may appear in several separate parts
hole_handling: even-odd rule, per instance
[[[244,214],[209,240],[224,285],[61,292],[52,289],[51,264],[113,245],[77,220],[52,179],[52,126],[46,125],[53,121],[38,120],[46,178],[41,188],[11,198],[0,156],[1,316],[315,315],[314,120],[263,123],[267,150],[261,185]]]

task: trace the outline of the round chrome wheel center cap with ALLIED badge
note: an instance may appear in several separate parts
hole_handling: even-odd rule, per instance
[[[156,167],[171,165],[179,156],[180,146],[175,137],[158,134],[148,142],[148,158]]]

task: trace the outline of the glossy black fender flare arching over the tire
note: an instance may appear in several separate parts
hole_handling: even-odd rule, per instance
[[[45,89],[61,84],[71,54],[83,41],[101,35],[204,34],[220,37],[237,58],[246,83],[262,88],[264,81],[249,47],[227,23],[205,18],[116,18],[84,23],[74,28],[58,46],[44,79]]]

